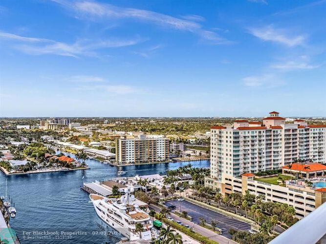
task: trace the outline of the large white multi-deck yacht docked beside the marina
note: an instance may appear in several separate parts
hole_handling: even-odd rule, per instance
[[[96,214],[112,228],[127,237],[130,241],[152,239],[153,227],[151,217],[136,204],[133,188],[125,189],[126,195],[120,199],[109,199],[100,195],[90,194]],[[142,224],[143,229],[136,232],[136,224]]]

